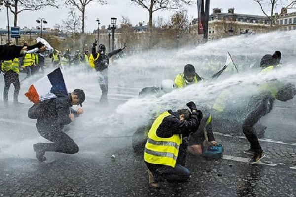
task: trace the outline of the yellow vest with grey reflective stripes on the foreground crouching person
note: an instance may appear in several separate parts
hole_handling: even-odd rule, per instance
[[[150,164],[160,164],[175,167],[179,146],[182,137],[174,134],[170,138],[161,138],[156,135],[156,131],[165,117],[170,116],[169,112],[164,112],[154,121],[149,133],[144,150],[144,160]]]

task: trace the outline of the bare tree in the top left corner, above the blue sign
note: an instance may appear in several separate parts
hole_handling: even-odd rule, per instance
[[[3,0],[4,3],[7,0]],[[13,25],[17,26],[18,14],[24,11],[36,11],[42,9],[43,7],[56,7],[56,0],[10,0],[9,1],[13,6],[9,6],[9,10],[14,15]],[[18,39],[16,39],[16,43],[18,44]]]

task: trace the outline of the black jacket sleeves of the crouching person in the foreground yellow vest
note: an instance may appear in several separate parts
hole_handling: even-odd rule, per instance
[[[180,121],[177,112],[168,111],[171,116],[165,117],[159,125],[156,135],[161,138],[169,138],[174,134],[182,134],[183,137],[188,137],[190,133],[196,132],[201,119],[198,118],[199,113],[193,112],[188,120]]]

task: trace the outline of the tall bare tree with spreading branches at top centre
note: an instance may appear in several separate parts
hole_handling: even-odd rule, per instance
[[[149,48],[152,48],[153,13],[158,10],[178,9],[182,4],[191,5],[193,0],[131,0],[149,12]]]

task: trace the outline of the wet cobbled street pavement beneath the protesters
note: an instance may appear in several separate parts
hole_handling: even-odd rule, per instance
[[[132,149],[133,131],[120,133],[121,128],[113,128],[114,131],[104,132],[104,128],[91,125],[95,119],[88,120],[93,116],[107,116],[119,104],[137,97],[141,86],[126,88],[111,84],[110,108],[102,109],[97,105],[99,93],[89,91],[97,88],[97,84],[84,84],[82,87],[90,93],[84,105],[88,112],[67,131],[79,145],[79,153],[46,153],[46,163],[37,161],[32,148],[32,144],[42,138],[35,128],[36,121],[26,115],[31,104],[24,98],[20,101],[25,104],[17,107],[4,107],[0,103],[0,197],[296,196],[296,169],[293,169],[296,166],[296,99],[276,102],[273,111],[262,118],[261,123],[267,129],[266,139],[260,143],[267,156],[260,164],[245,162],[248,156],[242,151],[249,148],[249,144],[242,133],[230,136],[216,131],[216,140],[224,146],[223,159],[207,161],[189,155],[190,181],[161,183],[161,188],[155,190],[148,187],[143,155]]]

